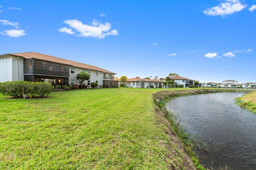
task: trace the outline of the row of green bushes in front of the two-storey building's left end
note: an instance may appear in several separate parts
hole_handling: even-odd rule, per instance
[[[0,93],[15,98],[24,95],[38,95],[40,97],[48,96],[54,87],[45,82],[28,82],[28,81],[6,81],[0,83]]]

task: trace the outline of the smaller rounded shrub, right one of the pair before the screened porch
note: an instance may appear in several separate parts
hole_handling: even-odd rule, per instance
[[[54,86],[50,83],[35,82],[32,83],[32,94],[39,95],[40,97],[48,96],[53,90]]]

